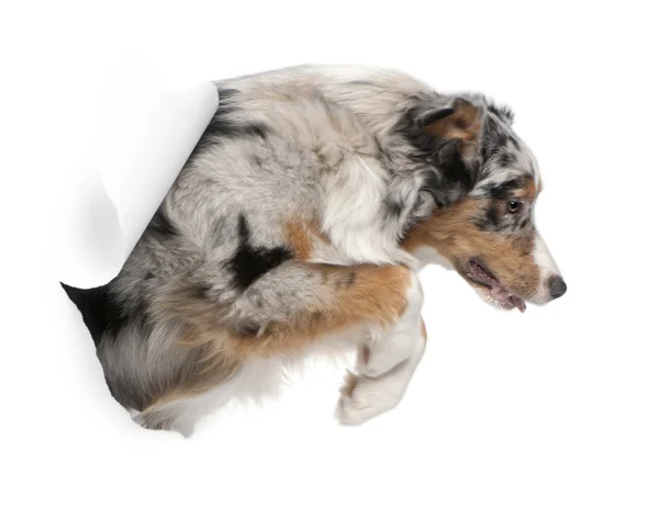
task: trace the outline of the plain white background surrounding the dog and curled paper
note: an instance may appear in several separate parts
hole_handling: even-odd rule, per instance
[[[0,504],[659,505],[651,2],[51,3],[0,13]],[[100,42],[179,83],[361,63],[509,102],[568,293],[500,313],[429,268],[426,356],[360,428],[334,421],[342,372],[322,364],[191,439],[138,428],[48,266]]]

